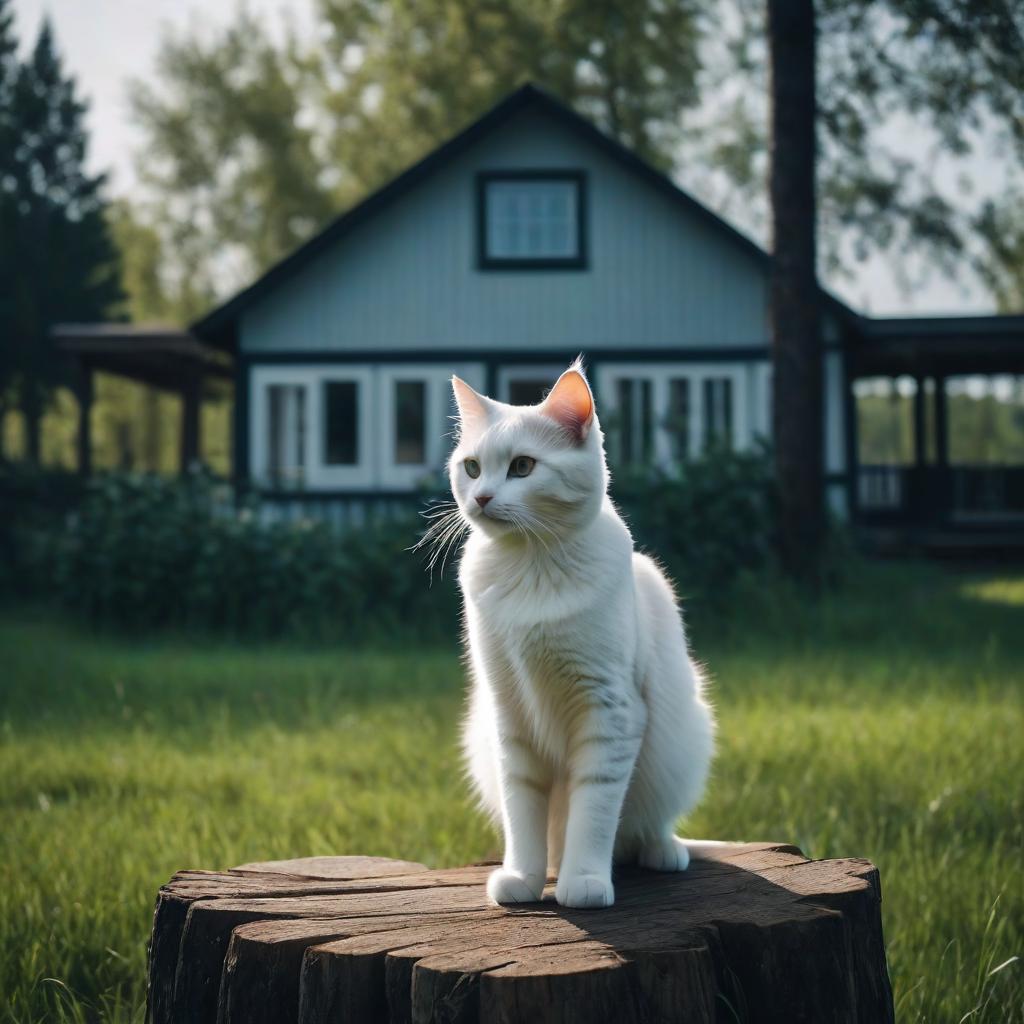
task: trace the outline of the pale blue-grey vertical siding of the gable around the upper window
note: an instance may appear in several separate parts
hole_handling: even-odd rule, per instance
[[[583,168],[590,267],[480,271],[475,175]],[[757,345],[763,267],[542,114],[481,140],[252,306],[242,347],[327,351]]]

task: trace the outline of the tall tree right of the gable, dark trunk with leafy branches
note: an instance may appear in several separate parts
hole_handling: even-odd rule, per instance
[[[879,171],[872,120],[909,111],[928,119],[940,144],[962,152],[971,144],[972,126],[983,116],[997,116],[1006,119],[1007,144],[1024,154],[1024,12],[1012,0],[970,5],[818,0],[817,7],[817,25],[814,0],[768,0],[766,8],[780,546],[787,569],[810,580],[817,575],[824,535],[816,227],[825,217],[819,201],[822,206],[825,197],[835,201],[838,222],[855,226],[862,244],[890,245],[897,231],[905,230],[915,243],[948,254],[964,246],[963,223],[927,187],[908,198],[910,166],[893,164],[888,172]],[[829,59],[822,60],[827,72],[820,87],[818,27],[831,47]],[[824,97],[820,103],[819,97]],[[819,131],[826,140],[821,159],[826,178],[820,187],[815,180]]]

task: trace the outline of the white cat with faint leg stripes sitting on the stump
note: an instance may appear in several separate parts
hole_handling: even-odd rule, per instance
[[[699,799],[714,719],[672,587],[607,496],[594,400],[579,360],[539,406],[453,378],[450,476],[470,526],[459,580],[472,694],[470,772],[501,821],[497,903],[614,901],[612,858],[681,871],[674,835]]]

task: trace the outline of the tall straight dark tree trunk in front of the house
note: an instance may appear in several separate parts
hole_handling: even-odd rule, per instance
[[[824,535],[823,364],[816,280],[813,0],[768,0],[772,418],[786,570],[817,579]]]

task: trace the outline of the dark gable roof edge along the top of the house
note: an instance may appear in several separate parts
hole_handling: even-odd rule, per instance
[[[757,243],[713,213],[689,193],[680,188],[671,178],[638,157],[632,150],[605,135],[590,121],[556,99],[551,93],[527,82],[493,106],[468,128],[464,128],[436,150],[427,154],[422,160],[402,171],[397,177],[392,178],[387,184],[341,214],[308,242],[271,266],[248,288],[243,289],[222,305],[217,306],[193,324],[190,330],[206,341],[223,348],[233,349],[236,347],[234,327],[243,310],[279,284],[288,280],[323,250],[343,239],[353,228],[441,169],[455,157],[500,128],[515,115],[529,109],[542,111],[552,117],[563,127],[637,174],[647,184],[679,203],[689,213],[694,214],[727,238],[734,246],[761,262],[766,270],[771,265],[771,256]],[[824,292],[822,294],[826,301],[841,313],[856,318],[853,310],[840,302],[839,299]]]

